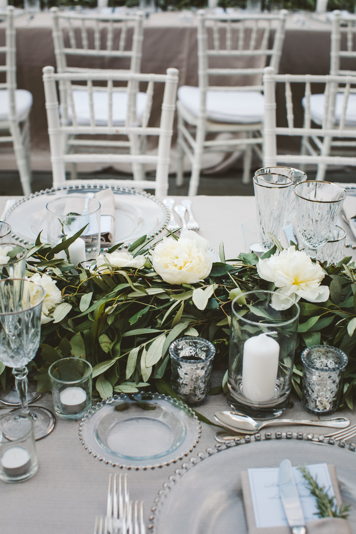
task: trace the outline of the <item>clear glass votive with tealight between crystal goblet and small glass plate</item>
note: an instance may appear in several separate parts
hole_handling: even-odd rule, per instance
[[[62,419],[81,419],[91,408],[92,366],[82,358],[62,358],[48,374],[54,412]]]

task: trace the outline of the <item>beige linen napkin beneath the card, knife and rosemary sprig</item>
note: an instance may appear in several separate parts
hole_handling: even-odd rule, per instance
[[[337,506],[341,506],[342,498],[337,483],[336,468],[334,465],[328,466],[331,482],[335,492]],[[249,534],[290,534],[290,528],[283,527],[263,527],[257,528],[255,524],[254,508],[250,492],[250,483],[247,471],[241,472],[241,483],[243,492],[243,502],[245,507],[246,521]],[[308,521],[306,523],[307,534],[352,534],[350,523],[344,519],[328,517]]]

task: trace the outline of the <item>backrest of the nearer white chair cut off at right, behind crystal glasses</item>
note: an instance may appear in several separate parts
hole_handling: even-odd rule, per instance
[[[275,84],[284,84],[287,109],[287,127],[276,127]],[[291,84],[305,85],[304,91],[304,124],[302,128],[294,126],[294,106],[292,102]],[[320,128],[312,128],[311,96],[315,84],[325,84],[324,107]],[[311,74],[274,74],[272,67],[266,67],[263,75],[265,96],[264,120],[264,167],[275,167],[277,162],[284,163],[326,163],[356,166],[356,158],[349,156],[322,156],[312,150],[312,155],[278,154],[276,136],[299,137],[348,137],[356,138],[356,126],[347,125],[346,108],[351,93],[351,85],[356,85],[356,73],[351,75],[311,75]],[[319,86],[320,87],[320,86]],[[320,92],[320,91],[319,91]],[[335,93],[344,93],[341,109],[335,116]],[[334,106],[333,106],[334,103]],[[318,143],[318,140],[317,140]],[[320,143],[320,141],[319,141]],[[319,146],[320,148],[320,146]]]

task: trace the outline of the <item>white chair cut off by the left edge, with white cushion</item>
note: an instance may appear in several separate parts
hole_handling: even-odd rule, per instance
[[[2,14],[6,20],[6,44],[0,47],[0,53],[6,54],[6,64],[0,66],[0,72],[6,74],[6,82],[0,83],[0,143],[12,143],[17,168],[20,174],[22,191],[31,193],[30,163],[30,121],[32,95],[16,85],[16,32],[13,23],[14,8],[8,6]],[[10,133],[10,135],[6,135]]]

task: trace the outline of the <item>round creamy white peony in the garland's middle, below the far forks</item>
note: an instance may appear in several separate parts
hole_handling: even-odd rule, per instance
[[[209,241],[196,232],[182,232],[178,241],[164,237],[151,253],[154,270],[169,284],[194,284],[204,280],[212,267]]]

